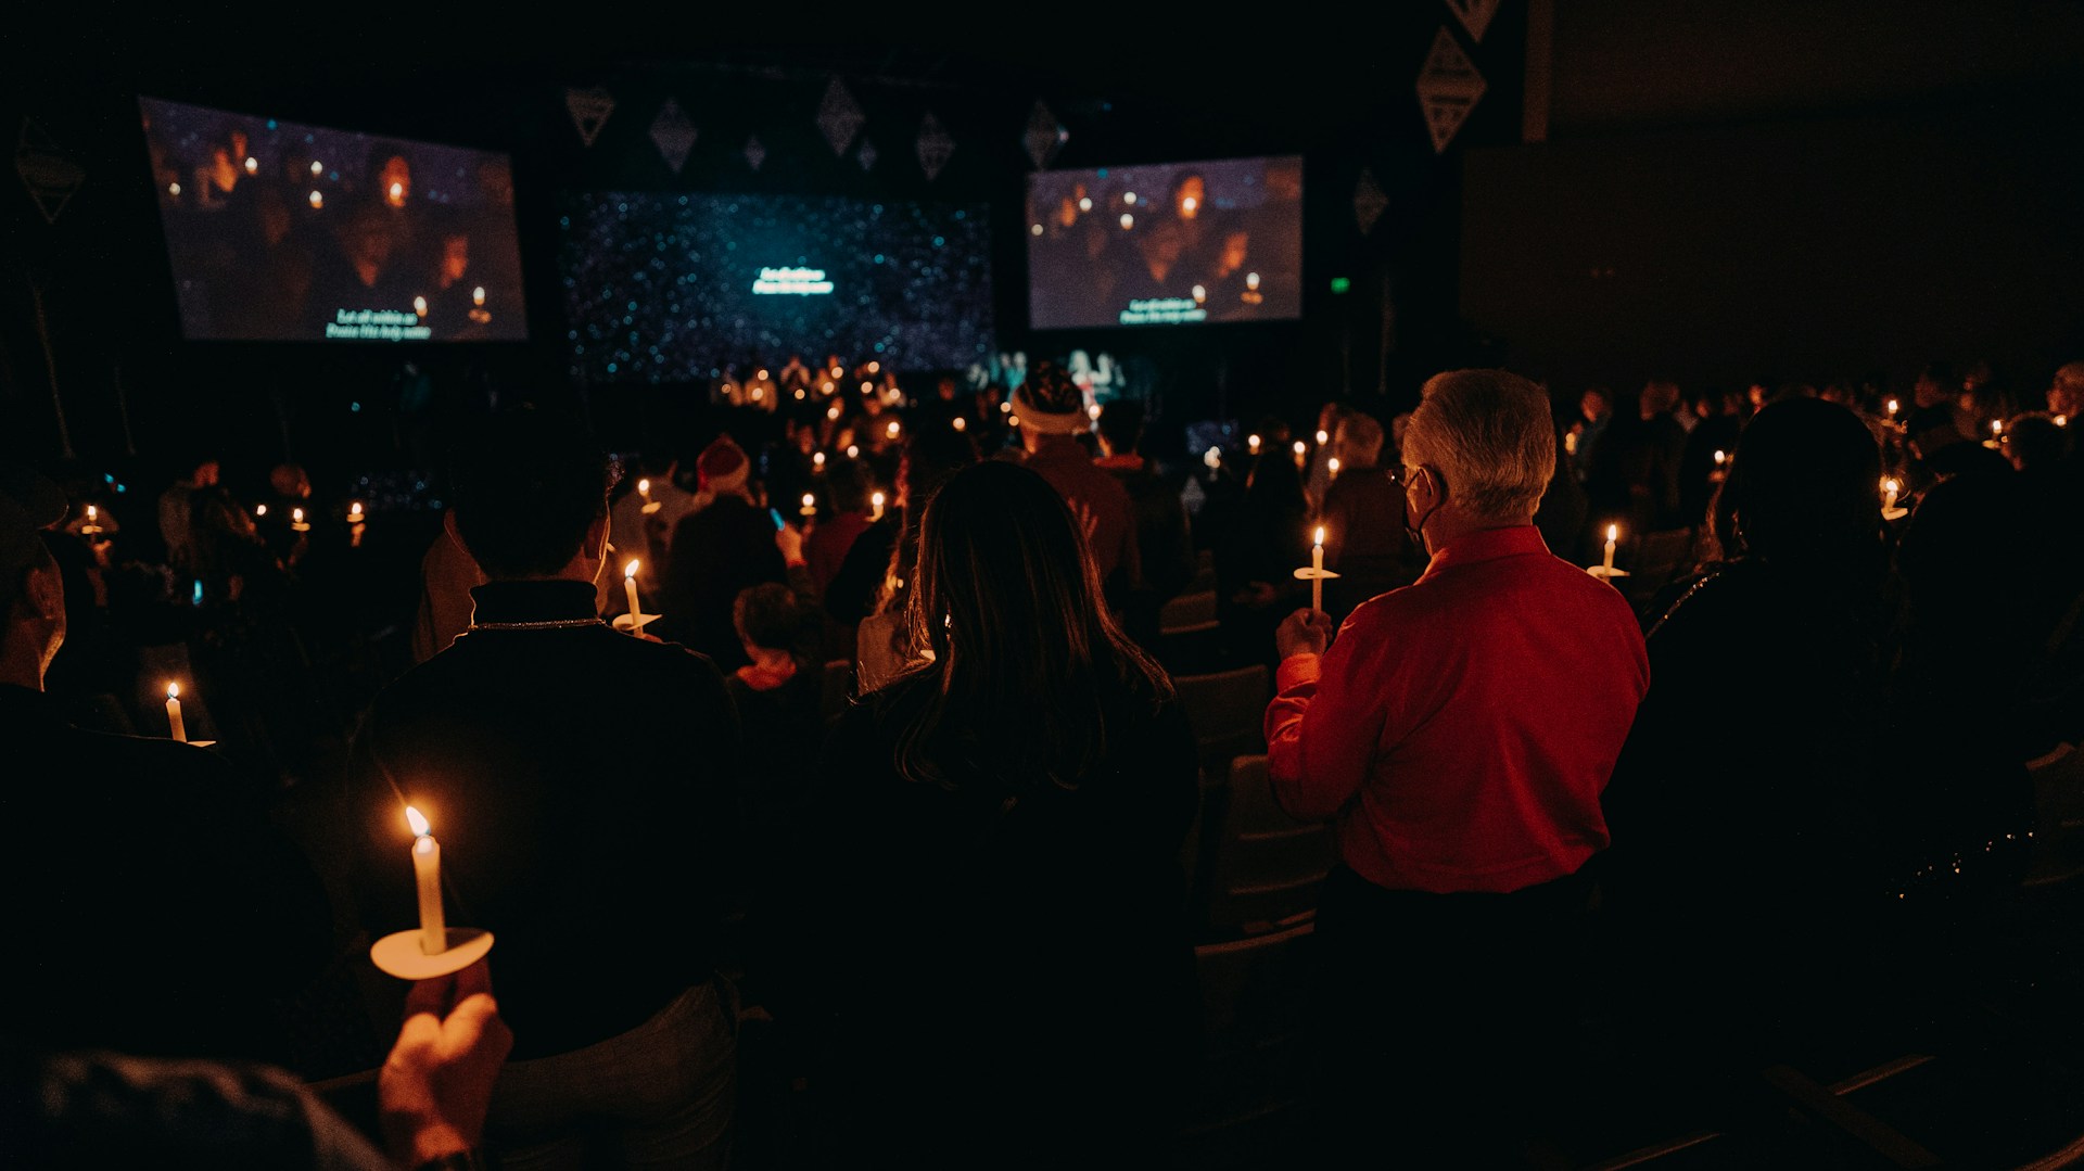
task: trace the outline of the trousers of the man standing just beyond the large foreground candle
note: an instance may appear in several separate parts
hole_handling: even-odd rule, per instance
[[[721,1169],[738,1104],[738,990],[717,977],[636,1029],[556,1056],[508,1061],[486,1146],[506,1171]]]

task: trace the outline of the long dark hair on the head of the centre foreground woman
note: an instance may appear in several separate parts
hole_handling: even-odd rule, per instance
[[[927,504],[904,619],[938,677],[900,744],[913,779],[982,761],[1017,790],[1073,786],[1105,754],[1109,692],[1171,692],[1109,615],[1063,496],[1009,460],[965,467]]]

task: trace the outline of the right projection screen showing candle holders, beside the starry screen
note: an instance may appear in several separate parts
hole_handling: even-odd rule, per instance
[[[1302,156],[1027,177],[1036,329],[1302,315]]]

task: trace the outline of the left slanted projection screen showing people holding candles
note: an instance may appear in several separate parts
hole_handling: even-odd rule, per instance
[[[138,106],[183,338],[527,340],[506,154]]]

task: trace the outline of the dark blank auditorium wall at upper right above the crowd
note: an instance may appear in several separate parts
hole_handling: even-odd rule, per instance
[[[1461,315],[1559,390],[2084,356],[2084,6],[1588,0],[1463,158]]]

